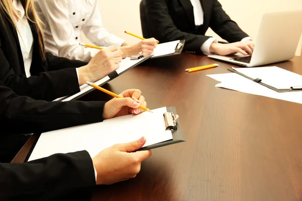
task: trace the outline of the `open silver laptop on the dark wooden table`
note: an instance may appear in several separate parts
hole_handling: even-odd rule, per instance
[[[302,33],[302,10],[265,13],[252,56],[235,55],[208,57],[246,67],[254,67],[294,57]]]

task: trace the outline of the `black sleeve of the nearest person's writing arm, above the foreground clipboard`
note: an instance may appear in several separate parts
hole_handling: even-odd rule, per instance
[[[105,102],[45,102],[18,96],[0,82],[1,133],[35,133],[103,121]]]

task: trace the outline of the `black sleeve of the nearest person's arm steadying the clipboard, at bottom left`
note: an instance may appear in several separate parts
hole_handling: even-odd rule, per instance
[[[87,198],[95,185],[87,151],[54,154],[27,163],[0,163],[0,200],[60,200],[68,194]]]

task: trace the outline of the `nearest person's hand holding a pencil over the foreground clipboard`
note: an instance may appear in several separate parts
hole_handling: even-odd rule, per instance
[[[142,111],[138,106],[147,106],[144,101],[144,96],[140,95],[141,91],[138,89],[128,89],[123,91],[121,95],[123,98],[113,98],[104,105],[103,118],[110,119],[130,114],[139,114]]]

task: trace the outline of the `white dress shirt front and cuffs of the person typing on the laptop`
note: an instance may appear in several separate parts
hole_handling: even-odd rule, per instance
[[[190,0],[190,1],[191,1],[192,6],[193,6],[195,25],[196,26],[203,25],[203,10],[202,10],[200,0]],[[251,37],[245,37],[241,41],[244,42],[244,41],[247,41],[247,40],[252,40],[252,38]],[[207,39],[200,47],[201,52],[203,54],[211,54],[210,53],[210,46],[213,42],[217,43],[217,39],[214,38],[214,37],[211,37],[211,38]]]

